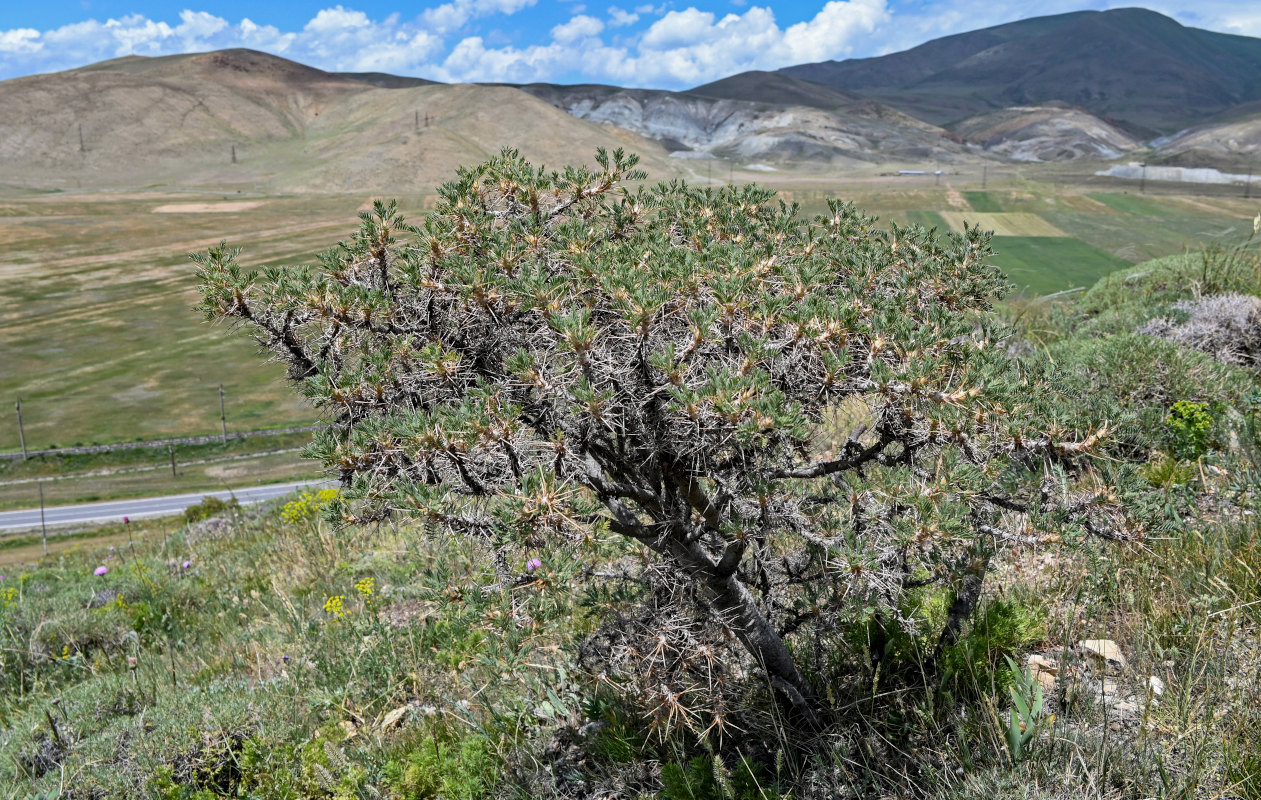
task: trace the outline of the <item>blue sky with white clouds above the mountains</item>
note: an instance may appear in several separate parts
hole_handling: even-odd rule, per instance
[[[439,81],[683,88],[745,69],[879,56],[1108,0],[0,0],[0,79],[119,56],[250,47],[330,71]],[[1255,0],[1153,0],[1185,25],[1261,37]]]

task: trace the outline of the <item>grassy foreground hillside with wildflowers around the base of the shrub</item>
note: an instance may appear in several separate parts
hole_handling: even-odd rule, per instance
[[[1256,797],[1256,376],[1132,334],[1226,290],[1261,290],[1255,247],[1006,309],[1035,344],[1028,368],[1053,365],[1083,404],[1124,411],[1115,452],[1140,466],[1131,502],[1151,527],[1001,550],[932,680],[900,638],[860,666],[860,626],[859,688],[836,688],[851,693],[835,698],[841,722],[812,752],[738,731],[705,744],[682,721],[660,737],[581,669],[580,644],[636,592],[618,578],[638,560],[622,543],[547,548],[497,584],[474,543],[406,522],[334,529],[308,496],[107,529],[44,562],[30,543],[0,548],[0,797]],[[1173,456],[1178,401],[1209,409],[1198,458]],[[1083,640],[1113,641],[1125,664],[1092,660]],[[1015,758],[1023,684],[1006,656],[1020,673],[1054,665]]]

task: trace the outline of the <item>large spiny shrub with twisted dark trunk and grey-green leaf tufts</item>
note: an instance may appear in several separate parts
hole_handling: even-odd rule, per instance
[[[203,312],[330,419],[309,454],[340,476],[334,515],[480,541],[503,585],[550,541],[629,538],[644,602],[588,662],[654,731],[705,736],[755,686],[791,728],[826,724],[856,616],[952,644],[1000,546],[1131,535],[1090,468],[1107,410],[1072,411],[1001,347],[987,235],[596,162],[504,151],[419,227],[376,203],[318,266],[197,256]],[[868,421],[820,452],[844,403]],[[900,612],[928,585],[950,597],[932,631]]]

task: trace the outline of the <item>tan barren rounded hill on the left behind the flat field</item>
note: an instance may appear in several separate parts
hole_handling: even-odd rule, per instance
[[[672,167],[656,143],[516,90],[377,88],[252,50],[4,81],[0,107],[0,184],[10,185],[425,191],[503,146],[552,165],[628,146],[658,177]]]

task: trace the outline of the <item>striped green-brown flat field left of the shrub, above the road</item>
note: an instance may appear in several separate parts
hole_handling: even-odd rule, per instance
[[[277,365],[204,323],[192,250],[221,238],[251,266],[310,261],[356,226],[363,197],[270,197],[248,213],[153,213],[218,197],[25,197],[0,225],[0,397],[23,399],[32,449],[216,433],[218,387],[235,430],[311,421]],[[11,406],[10,406],[11,409]],[[16,424],[0,449],[18,448]]]

